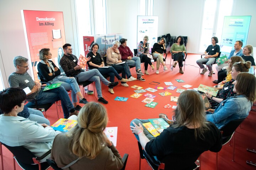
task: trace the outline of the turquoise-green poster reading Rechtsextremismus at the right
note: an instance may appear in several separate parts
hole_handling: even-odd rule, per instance
[[[247,42],[251,16],[225,16],[222,37],[219,39],[221,56],[229,57],[229,53],[234,49],[235,41],[242,41],[244,47]]]

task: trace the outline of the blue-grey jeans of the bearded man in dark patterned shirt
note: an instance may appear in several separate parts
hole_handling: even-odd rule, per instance
[[[105,79],[100,74],[100,72],[97,69],[92,69],[92,70],[88,70],[86,72],[81,72],[76,76],[78,77],[78,80],[79,80],[78,82],[87,81],[87,80],[95,81],[98,98],[102,97],[100,80],[105,85],[108,85],[110,83],[107,79]]]

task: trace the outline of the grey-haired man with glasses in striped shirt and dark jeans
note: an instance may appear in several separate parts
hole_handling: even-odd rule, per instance
[[[52,103],[61,100],[65,119],[69,118],[71,115],[78,114],[70,101],[68,92],[66,92],[63,86],[43,91],[41,85],[35,82],[27,72],[29,69],[28,59],[22,56],[17,56],[14,57],[13,61],[16,71],[9,76],[10,87],[20,87],[21,89],[29,87],[31,92],[27,94],[27,100],[32,104],[35,104],[35,101],[32,98],[36,98],[38,104]]]

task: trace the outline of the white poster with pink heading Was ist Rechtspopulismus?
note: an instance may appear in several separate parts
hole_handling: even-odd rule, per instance
[[[137,45],[143,41],[144,36],[149,37],[149,52],[157,42],[158,37],[158,16],[139,16],[137,18]]]

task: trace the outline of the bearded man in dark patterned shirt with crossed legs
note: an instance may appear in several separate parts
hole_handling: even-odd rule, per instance
[[[82,70],[82,67],[78,65],[78,58],[72,54],[73,49],[71,49],[71,44],[64,44],[63,50],[64,55],[60,59],[59,64],[63,68],[65,74],[67,76],[75,77],[78,82],[87,80],[95,81],[98,101],[107,104],[108,101],[102,97],[100,80],[110,89],[113,89],[114,86],[117,86],[118,82],[110,82],[106,80],[97,69],[88,70],[86,72]],[[90,60],[90,58],[91,57],[89,57],[88,60]]]

